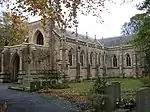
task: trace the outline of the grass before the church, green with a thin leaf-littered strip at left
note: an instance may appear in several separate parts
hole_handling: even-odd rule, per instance
[[[133,79],[133,78],[107,78],[108,81],[117,81],[121,83],[121,91],[134,91],[138,88],[143,86],[140,79]],[[88,91],[92,88],[94,81],[83,81],[80,83],[69,83],[70,88],[68,89],[48,89],[48,90],[40,90],[41,94],[49,94],[49,95],[56,95],[64,98],[75,98],[78,99],[86,98]],[[126,91],[127,90],[127,91]],[[46,92],[47,91],[47,92]],[[122,93],[124,93],[122,92]],[[69,98],[70,99],[70,98]]]

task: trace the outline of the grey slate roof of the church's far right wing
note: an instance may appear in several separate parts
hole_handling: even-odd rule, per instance
[[[104,39],[98,39],[105,47],[120,46],[121,44],[127,45],[128,42],[133,40],[132,36],[118,36]]]

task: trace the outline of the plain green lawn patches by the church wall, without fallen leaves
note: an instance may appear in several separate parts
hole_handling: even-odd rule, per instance
[[[131,78],[109,78],[107,79],[108,81],[118,81],[121,83],[121,90],[126,90],[126,89],[137,89],[142,87],[142,83],[140,82],[139,79],[131,79]],[[93,85],[92,81],[85,81],[82,83],[73,83],[70,84],[71,89],[75,91],[87,91],[90,89]]]

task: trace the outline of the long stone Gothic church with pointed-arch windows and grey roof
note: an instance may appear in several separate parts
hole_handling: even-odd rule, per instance
[[[56,29],[49,37],[40,21],[30,23],[28,42],[5,46],[1,52],[0,81],[22,83],[24,76],[38,80],[45,74],[68,80],[96,76],[135,77],[144,71],[144,58],[129,44],[131,36],[96,39]]]

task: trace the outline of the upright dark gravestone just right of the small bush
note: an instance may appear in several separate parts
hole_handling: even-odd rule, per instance
[[[112,112],[116,108],[116,101],[121,99],[120,83],[113,82],[105,88],[105,95],[109,100],[106,101],[106,109],[108,112]]]

